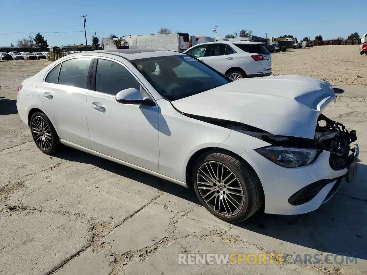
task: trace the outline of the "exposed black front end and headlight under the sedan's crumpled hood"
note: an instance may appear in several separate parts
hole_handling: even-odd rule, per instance
[[[319,154],[328,151],[330,152],[329,164],[331,169],[348,169],[345,176],[348,182],[356,174],[359,148],[357,144],[351,146],[357,140],[356,131],[347,130],[343,124],[327,118],[324,114],[320,114],[317,119],[314,139],[274,135],[240,122],[191,114],[185,115],[264,140],[271,146],[258,148],[255,151],[283,167],[294,168],[311,164]]]

